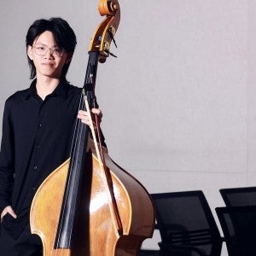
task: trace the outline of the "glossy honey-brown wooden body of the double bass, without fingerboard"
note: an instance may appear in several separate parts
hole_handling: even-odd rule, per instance
[[[73,230],[73,247],[55,247],[61,216],[60,202],[65,195],[70,160],[55,169],[34,196],[30,214],[32,233],[43,241],[44,256],[137,255],[143,240],[151,237],[154,231],[151,197],[137,179],[117,166],[107,152],[104,153],[123,226],[123,234],[119,235],[101,163],[93,150],[89,154],[91,157],[86,163],[82,185],[83,200],[79,202],[79,220]]]

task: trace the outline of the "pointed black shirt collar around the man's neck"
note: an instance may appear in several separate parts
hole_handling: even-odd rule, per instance
[[[37,96],[37,89],[36,89],[37,79],[34,79],[26,92],[25,100],[29,99],[31,96]],[[66,80],[61,80],[60,83],[57,85],[55,90],[50,94],[51,96],[61,96],[62,98],[67,97],[67,90],[68,90],[68,82]]]

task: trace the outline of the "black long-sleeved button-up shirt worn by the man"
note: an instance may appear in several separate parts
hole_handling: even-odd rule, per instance
[[[12,221],[19,229],[28,221],[38,186],[69,157],[80,96],[81,89],[61,82],[43,101],[35,80],[5,102],[0,212],[11,205],[18,215]]]

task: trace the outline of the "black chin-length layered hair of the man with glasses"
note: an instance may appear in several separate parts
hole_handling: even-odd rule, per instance
[[[64,49],[68,54],[73,55],[77,44],[76,35],[73,32],[73,29],[68,25],[67,21],[61,18],[35,20],[26,33],[26,49],[28,45],[32,46],[35,39],[45,31],[52,32],[57,46]],[[30,67],[30,79],[34,79],[36,76],[36,67],[28,55],[27,60]],[[64,65],[61,73],[61,79],[66,80],[69,65],[70,62]]]

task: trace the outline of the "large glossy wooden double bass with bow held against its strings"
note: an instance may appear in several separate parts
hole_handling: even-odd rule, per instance
[[[96,104],[97,64],[111,55],[120,19],[117,0],[100,0],[98,9],[106,18],[90,40],[79,102],[79,109],[85,110]],[[77,120],[70,158],[34,195],[30,225],[43,242],[44,256],[135,256],[153,235],[153,201],[143,185],[110,158],[98,123],[91,116],[90,126]]]

